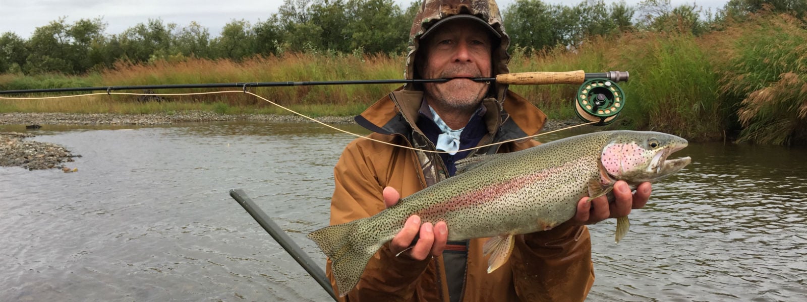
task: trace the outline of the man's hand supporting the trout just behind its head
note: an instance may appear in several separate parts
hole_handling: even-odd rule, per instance
[[[608,203],[606,197],[597,197],[589,202],[583,197],[577,203],[577,213],[569,221],[573,225],[593,225],[608,218],[628,216],[630,209],[642,209],[650,198],[650,183],[639,184],[636,193],[630,192],[623,180],[613,185],[615,201]]]

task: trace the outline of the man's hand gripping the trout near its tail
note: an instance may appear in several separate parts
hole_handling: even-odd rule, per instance
[[[395,188],[392,187],[384,188],[383,195],[384,205],[387,205],[387,208],[397,204],[400,200],[400,193],[395,191]],[[416,235],[419,235],[420,238],[418,238],[415,245],[412,246],[412,241],[415,239]],[[403,230],[395,234],[395,237],[392,238],[390,250],[395,254],[406,250],[403,254],[408,255],[412,259],[423,260],[429,257],[429,254],[433,256],[442,254],[448,236],[449,230],[445,222],[440,221],[435,225],[432,225],[431,222],[425,222],[421,225],[420,217],[412,215],[406,220],[406,224],[403,225]],[[407,250],[410,246],[412,246],[412,248]]]

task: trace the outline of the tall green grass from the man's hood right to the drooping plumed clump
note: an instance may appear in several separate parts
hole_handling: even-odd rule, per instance
[[[630,129],[661,130],[690,139],[722,136],[717,76],[692,35],[641,33],[594,37],[579,48],[525,54],[516,49],[511,71],[629,71],[618,121]],[[574,117],[578,85],[511,86],[541,109]],[[550,118],[553,118],[550,116]]]

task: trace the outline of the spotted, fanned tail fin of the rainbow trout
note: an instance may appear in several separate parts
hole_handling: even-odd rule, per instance
[[[331,269],[334,279],[337,279],[339,296],[347,295],[356,287],[367,262],[384,243],[381,236],[366,238],[368,234],[360,232],[362,225],[370,222],[368,218],[370,217],[341,225],[330,225],[308,234],[308,238],[316,242],[320,250],[331,259]],[[364,236],[359,235],[362,233]]]

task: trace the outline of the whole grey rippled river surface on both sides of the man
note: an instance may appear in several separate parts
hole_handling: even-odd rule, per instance
[[[304,123],[44,129],[36,140],[82,157],[74,173],[0,168],[0,300],[330,299],[228,191],[324,267],[305,234],[328,223],[332,167],[353,137]],[[622,242],[613,221],[591,226],[588,300],[804,300],[807,149],[677,154],[692,164],[654,184]]]

